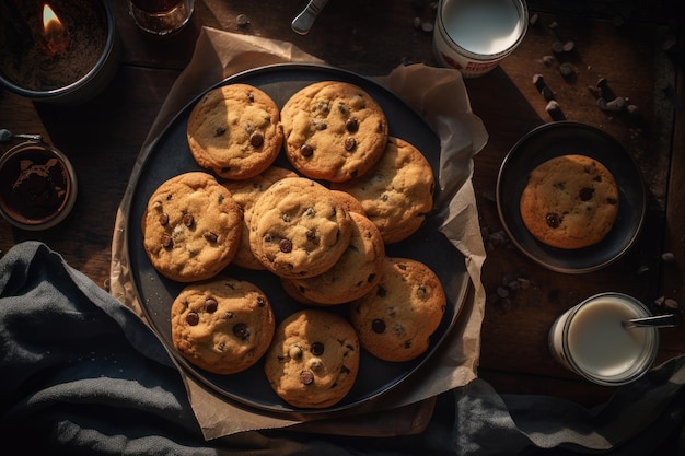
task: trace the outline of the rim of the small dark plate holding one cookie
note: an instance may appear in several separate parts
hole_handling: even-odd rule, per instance
[[[596,137],[596,138],[601,138],[604,141],[608,141],[611,142],[616,150],[619,150],[622,153],[622,157],[626,161],[626,163],[628,163],[631,167],[635,168],[635,172],[637,175],[639,175],[639,182],[638,183],[634,183],[634,185],[637,185],[638,188],[638,194],[641,196],[641,202],[639,204],[639,209],[640,209],[640,214],[639,214],[639,223],[637,224],[635,231],[631,233],[631,236],[629,238],[629,241],[626,243],[625,246],[623,246],[620,248],[619,252],[615,253],[611,258],[603,260],[603,261],[599,261],[585,267],[578,267],[578,268],[573,268],[573,267],[562,267],[562,266],[557,266],[557,265],[553,265],[549,264],[547,261],[545,261],[544,259],[539,258],[538,256],[534,255],[532,252],[530,252],[527,248],[525,248],[525,246],[522,244],[520,236],[512,230],[512,227],[510,226],[510,220],[508,219],[506,211],[503,210],[502,207],[502,198],[503,198],[503,191],[506,190],[503,188],[503,177],[508,171],[509,165],[511,164],[511,162],[516,159],[516,154],[521,153],[523,147],[526,144],[526,142],[531,141],[532,139],[536,139],[537,137],[541,137],[543,135],[552,135],[555,132],[555,130],[568,130],[573,131],[573,130],[584,130],[585,132],[589,132],[590,135]],[[579,152],[582,154],[582,152]],[[560,152],[558,154],[556,153],[552,153],[547,156],[547,160],[555,157],[555,156],[560,156],[566,154],[565,152]],[[609,167],[611,165],[607,164],[607,167]],[[533,167],[531,167],[530,171],[532,171]],[[611,169],[609,169],[611,171]],[[623,192],[622,188],[618,188],[619,191]],[[516,140],[516,142],[511,147],[511,149],[509,150],[509,152],[507,153],[507,155],[504,156],[504,159],[502,160],[502,163],[500,165],[498,175],[497,175],[497,186],[496,186],[496,202],[497,202],[497,211],[499,214],[499,219],[500,222],[502,223],[502,226],[507,233],[507,235],[509,236],[509,238],[511,239],[511,242],[516,246],[516,248],[523,253],[526,257],[529,257],[530,259],[532,259],[533,261],[535,261],[536,264],[556,271],[556,272],[562,272],[562,273],[569,273],[569,274],[581,274],[581,273],[588,273],[588,272],[593,272],[600,269],[603,269],[614,262],[616,262],[618,259],[620,259],[627,252],[629,252],[632,246],[635,245],[635,243],[637,242],[637,239],[639,238],[642,227],[645,225],[645,218],[647,214],[647,186],[645,184],[645,179],[642,177],[642,173],[639,169],[639,166],[637,164],[637,162],[635,161],[635,159],[626,151],[626,149],[623,147],[623,144],[620,144],[620,142],[618,142],[618,140],[616,138],[614,138],[612,135],[609,135],[608,132],[592,126],[592,125],[588,125],[588,124],[582,124],[582,122],[578,122],[578,121],[572,121],[572,120],[561,120],[561,121],[554,121],[554,122],[547,122],[547,124],[542,124],[537,127],[534,127],[533,129],[531,129],[530,131],[527,131],[523,137],[521,137],[519,140]],[[619,209],[620,210],[620,209]],[[537,245],[550,249],[550,250],[555,250],[554,247],[550,246],[546,246],[544,244],[542,244],[539,241],[537,241],[536,238],[532,237],[532,241],[535,242]],[[559,253],[565,252],[564,249],[558,249]]]

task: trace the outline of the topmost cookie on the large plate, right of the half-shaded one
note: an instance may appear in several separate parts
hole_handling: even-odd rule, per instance
[[[387,142],[382,107],[365,91],[320,81],[294,93],[281,109],[286,156],[304,176],[330,182],[367,173]]]

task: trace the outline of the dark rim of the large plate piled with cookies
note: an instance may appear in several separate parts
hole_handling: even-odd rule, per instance
[[[140,184],[140,182],[142,179],[142,176],[144,174],[143,172],[150,165],[149,162],[151,161],[151,157],[154,154],[155,148],[158,147],[158,144],[160,143],[162,138],[170,131],[170,129],[172,129],[178,121],[183,120],[183,116],[189,109],[189,106],[196,104],[197,101],[200,100],[208,91],[210,91],[212,89],[216,89],[218,86],[229,84],[229,83],[231,83],[232,81],[235,81],[235,80],[249,78],[251,75],[254,75],[254,74],[258,74],[258,73],[263,73],[263,72],[278,71],[278,70],[283,70],[283,69],[285,70],[293,70],[293,71],[307,71],[307,70],[325,71],[325,72],[329,72],[332,74],[337,74],[338,78],[352,78],[352,79],[357,79],[357,80],[362,80],[362,81],[364,81],[364,83],[372,84],[379,91],[385,92],[388,96],[396,98],[396,101],[398,101],[404,106],[406,106],[407,109],[410,109],[414,113],[414,115],[416,115],[419,118],[421,118],[423,120],[423,122],[425,122],[426,128],[428,128],[432,132],[432,135],[436,136],[436,138],[438,139],[438,142],[439,142],[439,137],[432,130],[432,128],[430,128],[430,126],[426,122],[423,116],[417,109],[415,109],[413,106],[410,106],[407,102],[404,101],[404,98],[402,98],[399,95],[394,93],[392,90],[390,90],[388,87],[384,86],[380,82],[374,81],[372,78],[364,77],[362,74],[356,73],[356,72],[350,71],[350,70],[336,68],[336,67],[333,67],[333,66],[329,66],[329,65],[318,65],[318,63],[281,62],[281,63],[272,63],[272,65],[266,65],[266,66],[262,66],[262,67],[256,67],[256,68],[247,69],[247,70],[244,70],[244,71],[237,72],[235,74],[229,75],[229,77],[222,79],[219,82],[210,84],[206,89],[201,90],[198,94],[196,94],[193,97],[190,97],[187,103],[183,104],[183,106],[178,109],[177,113],[175,113],[173,116],[171,116],[169,118],[169,120],[166,121],[165,126],[159,131],[158,137],[152,142],[150,142],[148,144],[147,153],[146,153],[144,156],[142,156],[142,160],[140,160],[141,157],[138,159],[138,160],[140,160],[140,164],[135,169],[136,175],[131,176],[132,178],[129,179],[129,186],[131,187],[130,188],[130,196],[131,196],[131,198],[128,198],[128,200],[126,201],[126,204],[125,204],[125,213],[127,213],[127,217],[131,212],[131,208],[133,207],[135,196],[139,191],[139,184]],[[130,241],[131,234],[130,234],[129,227],[131,227],[131,221],[130,221],[130,217],[128,217],[128,219],[129,220],[126,223],[127,229],[125,230],[125,233],[124,233],[124,237],[125,237],[124,248],[126,249],[126,255],[127,255],[127,258],[129,258],[129,266],[130,266],[130,255],[129,255],[129,250],[130,249],[129,249],[129,245],[130,245],[130,242],[131,242]],[[437,227],[434,227],[434,230],[438,231]],[[440,235],[444,236],[442,233],[440,233]],[[460,255],[461,257],[463,257],[463,253],[460,252],[456,248],[454,248],[454,254],[455,255]],[[138,283],[140,278],[136,277],[136,274],[132,273],[132,268],[131,268],[131,271],[130,271],[130,277],[132,279],[131,280],[131,285],[132,285],[132,289],[133,289],[133,292],[135,292],[135,296],[136,296],[136,299],[138,300],[138,302],[140,304],[140,307],[141,307],[141,311],[143,312],[143,315],[146,316],[147,320],[150,324],[149,326],[153,329],[153,331],[155,332],[156,337],[160,339],[162,344],[169,351],[170,356],[172,358],[173,362],[179,369],[183,369],[183,372],[186,375],[191,376],[201,386],[207,387],[210,390],[214,391],[216,394],[218,394],[224,400],[230,400],[230,401],[240,404],[241,406],[251,407],[251,408],[254,408],[255,410],[266,411],[266,412],[274,413],[274,414],[286,414],[286,416],[289,416],[289,417],[292,417],[293,414],[295,414],[295,416],[297,414],[301,414],[301,416],[306,416],[306,417],[313,417],[313,416],[326,416],[326,417],[329,417],[329,416],[332,416],[334,413],[337,413],[337,412],[350,411],[350,410],[352,410],[355,408],[364,408],[370,402],[376,400],[379,397],[387,394],[391,390],[394,390],[399,384],[404,383],[411,375],[416,374],[417,371],[420,371],[420,369],[430,359],[432,359],[432,356],[436,354],[438,349],[442,347],[442,342],[444,342],[444,340],[446,339],[446,337],[450,334],[450,331],[452,331],[454,329],[454,327],[456,326],[456,321],[460,319],[460,316],[462,315],[462,311],[463,311],[464,306],[466,305],[466,301],[468,299],[469,291],[473,289],[472,279],[471,279],[471,277],[468,274],[468,271],[465,268],[464,273],[462,274],[462,278],[460,279],[460,283],[458,283],[460,287],[458,287],[458,293],[456,293],[457,294],[456,300],[455,300],[454,303],[451,303],[451,305],[454,306],[454,314],[453,314],[453,317],[452,317],[451,321],[449,321],[449,324],[448,324],[443,335],[440,337],[438,342],[431,343],[430,349],[428,350],[428,352],[426,352],[422,355],[422,359],[420,360],[420,362],[416,363],[416,365],[414,365],[411,369],[409,369],[408,372],[403,374],[402,377],[398,381],[396,381],[391,387],[383,388],[381,390],[376,390],[374,393],[371,393],[367,397],[364,397],[363,399],[360,399],[360,400],[355,401],[355,402],[344,404],[341,406],[334,405],[334,406],[332,406],[329,408],[325,408],[325,409],[307,409],[307,408],[298,408],[298,407],[294,407],[294,406],[290,406],[287,402],[283,402],[282,407],[274,407],[274,406],[254,404],[252,400],[249,400],[249,399],[242,399],[240,397],[236,397],[235,394],[231,394],[229,391],[225,391],[219,385],[216,385],[212,382],[208,381],[207,378],[204,378],[201,375],[199,375],[196,372],[197,367],[195,367],[186,359],[184,359],[173,347],[167,347],[165,337],[161,334],[160,328],[158,328],[158,324],[155,323],[154,318],[151,318],[151,315],[150,315],[151,311],[146,305],[144,300],[142,299],[143,296],[142,296],[142,294],[140,292],[140,288],[139,288],[139,283]]]

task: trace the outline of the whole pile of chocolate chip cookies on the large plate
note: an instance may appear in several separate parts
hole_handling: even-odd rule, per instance
[[[351,390],[361,349],[386,362],[427,352],[444,291],[385,246],[423,223],[433,172],[388,130],[381,106],[339,81],[312,83],[280,110],[247,84],[196,103],[187,140],[204,171],[162,183],[142,220],[152,266],[185,283],[171,307],[185,359],[218,374],[263,360],[281,399],[326,408]],[[281,151],[290,166],[275,165]],[[300,311],[275,321],[278,304],[229,264],[276,276]]]

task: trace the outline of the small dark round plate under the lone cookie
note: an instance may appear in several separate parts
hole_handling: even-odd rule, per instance
[[[618,215],[612,231],[599,244],[578,249],[550,247],[525,227],[519,201],[530,173],[543,162],[566,154],[582,154],[606,166],[618,186]],[[635,161],[612,136],[571,121],[545,124],[525,135],[511,149],[497,179],[497,209],[511,241],[548,269],[583,273],[620,258],[635,243],[647,211],[642,175]]]

